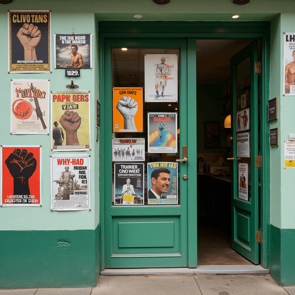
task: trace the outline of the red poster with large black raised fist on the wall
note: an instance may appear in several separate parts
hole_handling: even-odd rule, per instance
[[[1,207],[41,207],[41,146],[1,145],[0,165]]]

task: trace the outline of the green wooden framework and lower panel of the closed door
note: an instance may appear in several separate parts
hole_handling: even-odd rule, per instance
[[[182,146],[188,146],[188,161],[178,164],[180,192],[177,205],[118,206],[112,203],[112,86],[119,79],[116,67],[122,66],[120,62],[124,57],[118,53],[122,47],[129,50],[130,65],[134,67],[138,67],[135,55],[139,55],[139,60],[142,60],[140,55],[144,54],[144,50],[135,49],[154,48],[155,53],[161,53],[162,48],[167,52],[170,49],[178,50],[179,105],[175,108],[180,129],[178,156],[182,159]],[[131,54],[132,50],[134,53]],[[112,52],[118,55],[114,57]],[[196,41],[104,39],[103,68],[104,98],[100,103],[101,127],[104,129],[101,137],[104,183],[101,185],[104,185],[105,268],[196,267]],[[167,105],[155,103],[155,110],[165,112]],[[143,120],[146,119],[144,106]],[[136,137],[142,137],[142,134],[137,133]],[[183,179],[184,174],[188,176],[187,180]]]

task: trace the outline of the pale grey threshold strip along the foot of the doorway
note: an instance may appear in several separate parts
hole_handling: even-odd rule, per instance
[[[100,272],[103,276],[244,273],[269,273],[269,269],[261,265],[204,265],[197,268],[106,268]]]

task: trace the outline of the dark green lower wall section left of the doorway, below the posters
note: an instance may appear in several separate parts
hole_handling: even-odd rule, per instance
[[[95,230],[0,231],[0,289],[95,286]]]

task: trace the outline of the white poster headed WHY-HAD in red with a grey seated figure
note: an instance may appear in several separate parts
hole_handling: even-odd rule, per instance
[[[52,211],[90,210],[90,156],[51,155]]]

